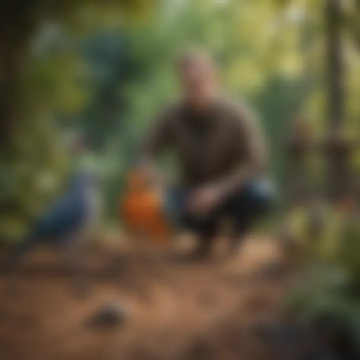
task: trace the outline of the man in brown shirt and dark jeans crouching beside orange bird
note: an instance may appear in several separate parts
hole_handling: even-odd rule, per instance
[[[216,67],[205,53],[181,56],[181,100],[159,116],[145,141],[149,168],[160,152],[173,150],[180,184],[169,194],[180,224],[199,235],[196,256],[208,256],[221,218],[233,223],[232,248],[270,200],[266,148],[255,118],[244,105],[219,93]]]

